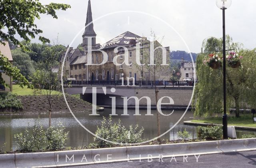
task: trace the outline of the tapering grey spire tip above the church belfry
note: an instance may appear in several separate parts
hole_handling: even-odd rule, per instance
[[[91,1],[88,1],[88,8],[87,8],[87,15],[86,15],[86,23],[85,26],[87,26],[84,30],[83,36],[96,36],[96,33],[93,29],[93,22],[92,22],[92,8],[91,8]],[[91,24],[90,24],[91,23]],[[90,25],[88,25],[90,24]]]

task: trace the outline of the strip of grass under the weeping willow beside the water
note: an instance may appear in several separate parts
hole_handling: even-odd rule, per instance
[[[192,120],[192,122],[222,124],[222,117],[212,117],[212,118],[205,118],[200,120]],[[256,122],[254,122],[253,124],[252,115],[241,114],[239,118],[236,118],[235,116],[228,116],[228,125],[256,127]]]

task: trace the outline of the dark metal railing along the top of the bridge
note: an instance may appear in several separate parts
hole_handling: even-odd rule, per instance
[[[100,85],[100,86],[127,86],[128,84],[130,86],[133,85],[133,81],[127,81],[125,80],[122,84],[122,80],[71,80],[71,81],[65,81],[64,84],[71,84],[71,85]],[[156,83],[156,86],[194,86],[194,81],[152,81],[152,80],[137,80],[135,81],[136,86],[154,86]]]

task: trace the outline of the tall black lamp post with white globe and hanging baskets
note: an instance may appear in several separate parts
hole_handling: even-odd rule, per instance
[[[228,138],[228,116],[226,107],[226,32],[225,32],[225,10],[230,7],[232,0],[216,0],[216,5],[222,10],[223,22],[223,103],[224,115],[222,117],[223,139]]]

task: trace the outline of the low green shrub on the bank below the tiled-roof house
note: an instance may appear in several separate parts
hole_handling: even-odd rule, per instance
[[[13,94],[12,92],[0,92],[0,109],[1,108],[22,109],[22,102],[17,97],[17,94]]]

